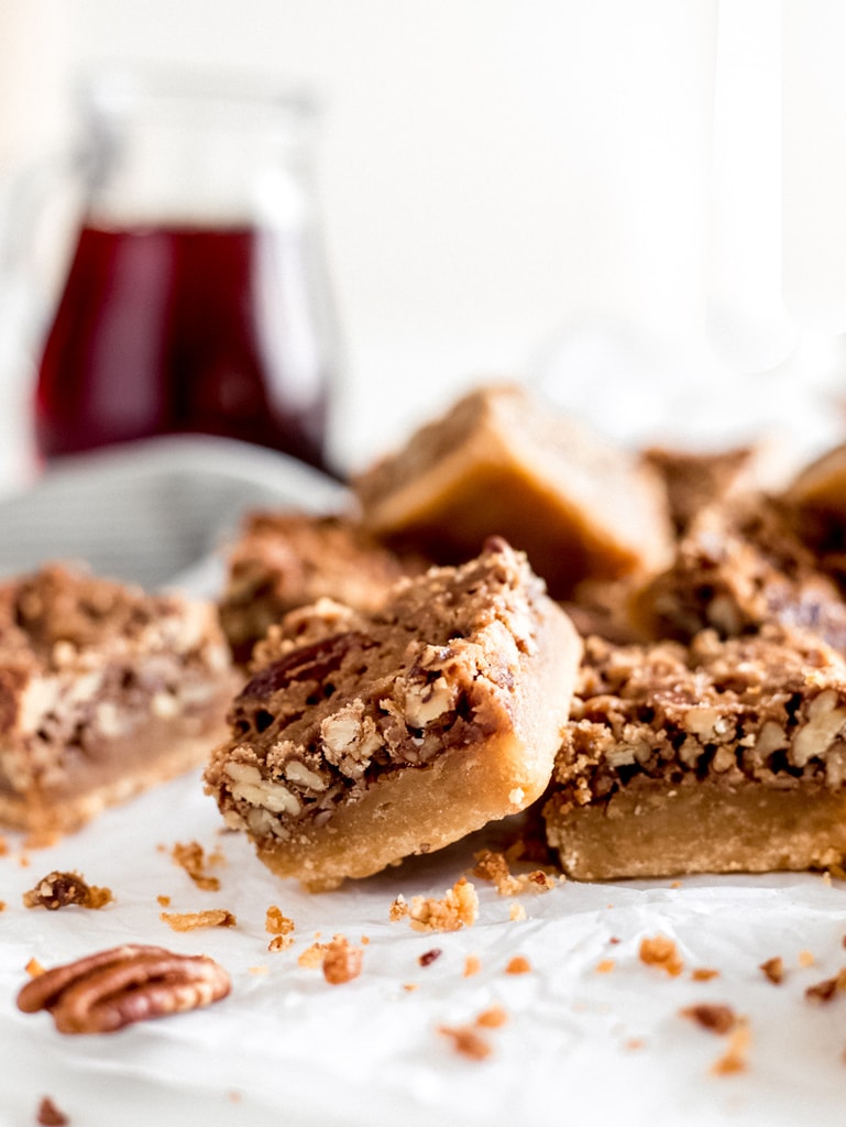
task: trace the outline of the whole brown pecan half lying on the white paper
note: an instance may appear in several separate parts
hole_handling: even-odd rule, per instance
[[[229,974],[205,955],[127,943],[45,970],[18,994],[24,1013],[47,1010],[60,1033],[112,1033],[225,997]]]

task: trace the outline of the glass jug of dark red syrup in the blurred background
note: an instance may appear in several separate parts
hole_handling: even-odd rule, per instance
[[[338,367],[312,105],[257,85],[100,74],[80,218],[38,360],[45,460],[223,435],[328,469]]]

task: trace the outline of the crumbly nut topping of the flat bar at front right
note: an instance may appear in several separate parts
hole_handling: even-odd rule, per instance
[[[846,782],[846,662],[809,636],[588,639],[571,717],[554,774],[562,809],[649,779]]]

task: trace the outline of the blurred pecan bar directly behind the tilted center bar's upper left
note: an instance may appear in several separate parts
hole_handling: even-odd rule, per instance
[[[288,611],[324,596],[375,610],[397,579],[421,570],[421,562],[400,559],[351,517],[251,513],[230,549],[221,624],[243,663]]]

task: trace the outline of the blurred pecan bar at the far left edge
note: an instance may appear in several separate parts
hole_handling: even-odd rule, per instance
[[[198,765],[235,684],[211,604],[60,565],[0,584],[0,822],[77,829]]]

